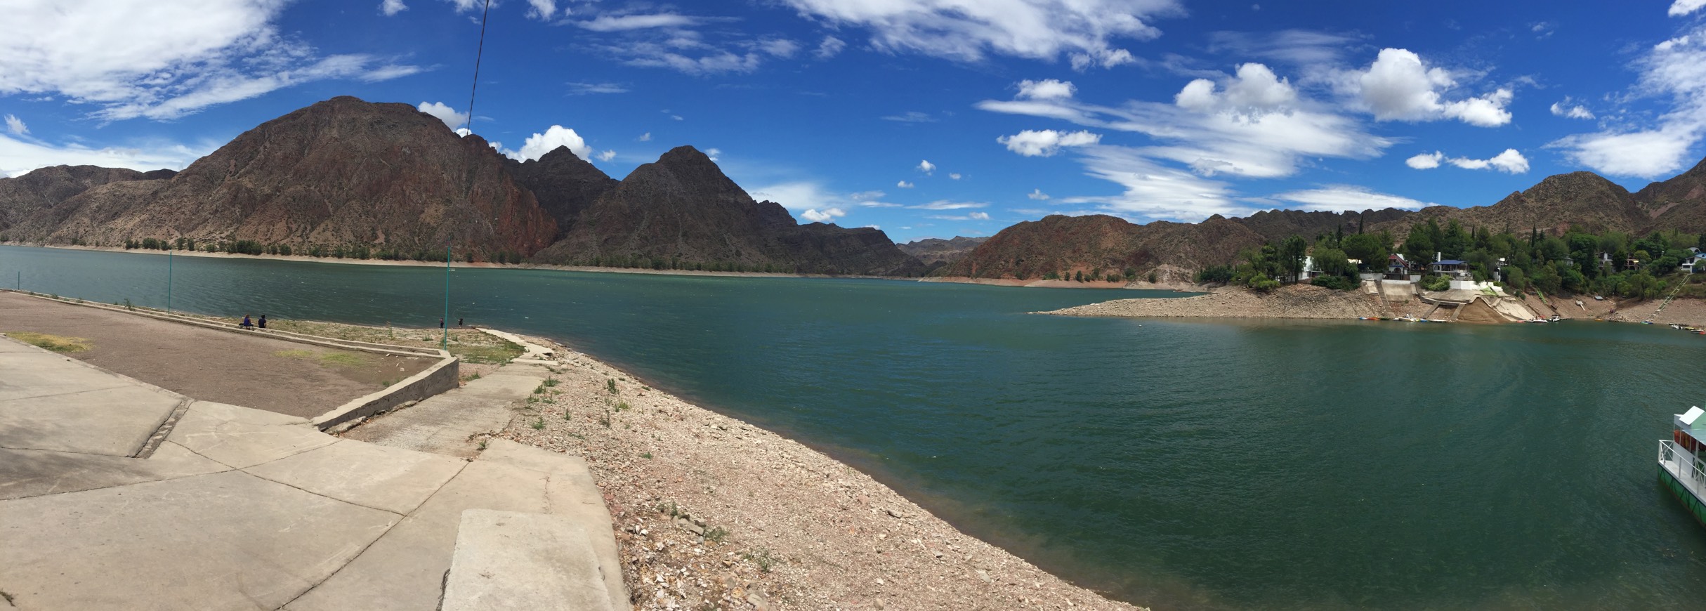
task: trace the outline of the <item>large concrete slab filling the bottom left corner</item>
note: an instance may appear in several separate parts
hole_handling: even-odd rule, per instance
[[[17,498],[0,575],[22,609],[276,609],[397,521],[241,471]]]

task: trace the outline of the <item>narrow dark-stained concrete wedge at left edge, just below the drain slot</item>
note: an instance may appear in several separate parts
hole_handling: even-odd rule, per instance
[[[164,444],[147,459],[0,449],[0,500],[176,480],[230,471],[177,444]]]

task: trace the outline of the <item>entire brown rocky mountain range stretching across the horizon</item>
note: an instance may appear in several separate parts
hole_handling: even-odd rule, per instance
[[[1288,236],[1426,220],[1523,232],[1706,230],[1706,160],[1629,193],[1593,172],[1489,207],[1257,212],[1199,224],[1109,215],[1020,222],[991,237],[894,244],[877,229],[798,224],[693,147],[623,179],[568,148],[514,160],[408,104],[334,97],[249,130],[181,172],[43,167],[0,179],[0,241],[121,246],[147,237],[476,261],[831,275],[1041,278],[1131,270],[1184,280]]]

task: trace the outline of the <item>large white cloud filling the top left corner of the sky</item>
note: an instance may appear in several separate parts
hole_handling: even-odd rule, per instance
[[[287,2],[10,2],[0,22],[0,96],[58,94],[92,116],[172,119],[206,106],[329,79],[420,72],[370,55],[319,56],[280,32]]]

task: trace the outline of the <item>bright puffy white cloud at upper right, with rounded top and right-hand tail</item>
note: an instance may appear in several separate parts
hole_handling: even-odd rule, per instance
[[[1373,113],[1377,121],[1460,119],[1476,126],[1510,123],[1515,94],[1496,89],[1479,97],[1447,101],[1443,92],[1457,87],[1452,72],[1428,67],[1409,49],[1380,49],[1368,70],[1351,70],[1343,85]]]

